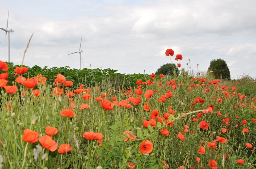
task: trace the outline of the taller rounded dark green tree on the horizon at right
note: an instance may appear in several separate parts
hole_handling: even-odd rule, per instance
[[[227,67],[226,62],[221,58],[218,58],[217,60],[216,59],[212,60],[210,62],[208,71],[213,71],[214,78],[222,77],[222,78],[230,79],[230,71]]]

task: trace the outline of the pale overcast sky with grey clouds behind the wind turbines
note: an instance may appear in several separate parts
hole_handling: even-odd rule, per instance
[[[231,78],[256,77],[255,0],[8,0],[1,1],[0,28],[10,33],[11,62],[33,67],[114,69],[155,73],[167,63],[206,72],[221,58]],[[0,60],[8,61],[0,30]],[[174,56],[165,55],[173,49]],[[188,63],[188,66],[187,66]],[[198,65],[198,66],[197,66]]]

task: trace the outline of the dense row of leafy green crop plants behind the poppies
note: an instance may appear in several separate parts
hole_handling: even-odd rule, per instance
[[[14,69],[16,67],[21,67],[21,65],[14,65],[13,63],[7,63],[8,64],[8,85],[12,85],[12,81],[15,81],[16,77],[14,77],[15,72]],[[26,66],[29,68],[28,66]],[[2,71],[0,71],[1,73]],[[134,87],[135,82],[137,79],[143,79],[149,77],[148,74],[140,74],[140,73],[134,73],[134,74],[121,74],[117,73],[118,70],[113,69],[70,69],[69,66],[65,67],[47,67],[41,68],[37,65],[33,66],[32,68],[29,68],[28,72],[23,74],[23,77],[26,78],[33,78],[34,76],[37,76],[38,74],[42,74],[42,76],[47,78],[48,84],[53,84],[55,81],[55,77],[59,73],[66,77],[66,80],[71,80],[74,83],[74,86],[79,86],[79,84],[85,84],[87,87],[91,86],[98,86],[99,84],[101,86],[107,85],[109,87],[118,89],[120,86],[122,88],[128,88],[128,87]],[[107,84],[106,84],[107,82]]]

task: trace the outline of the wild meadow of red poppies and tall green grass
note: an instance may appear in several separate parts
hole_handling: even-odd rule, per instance
[[[0,168],[256,167],[253,80],[0,69]]]

